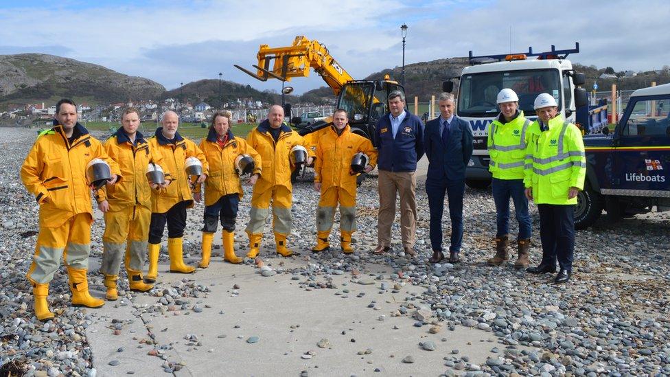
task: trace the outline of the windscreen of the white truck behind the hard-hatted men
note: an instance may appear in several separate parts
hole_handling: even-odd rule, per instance
[[[493,117],[500,112],[498,92],[511,88],[519,96],[519,109],[534,114],[533,102],[540,93],[553,95],[561,111],[561,82],[557,69],[528,69],[466,74],[461,77],[457,113],[463,117]]]

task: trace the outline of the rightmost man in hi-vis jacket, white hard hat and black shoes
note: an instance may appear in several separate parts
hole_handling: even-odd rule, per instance
[[[584,190],[586,155],[584,140],[577,126],[562,119],[555,98],[542,93],[535,99],[538,114],[531,126],[524,165],[527,198],[540,212],[542,262],[529,273],[553,273],[556,260],[561,267],[554,282],[570,280],[575,251],[575,205],[577,193]]]

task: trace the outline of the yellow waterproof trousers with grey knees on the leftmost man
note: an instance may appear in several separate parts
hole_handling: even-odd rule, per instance
[[[32,284],[49,284],[58,271],[61,256],[65,266],[87,271],[92,222],[91,214],[84,212],[72,216],[60,227],[40,227],[27,279]]]

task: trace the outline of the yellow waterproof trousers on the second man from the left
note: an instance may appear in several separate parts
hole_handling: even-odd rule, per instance
[[[151,209],[134,205],[104,214],[105,232],[102,236],[102,266],[105,275],[119,275],[126,257],[126,268],[142,271],[146,260]]]

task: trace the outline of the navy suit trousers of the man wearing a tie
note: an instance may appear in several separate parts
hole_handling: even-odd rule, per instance
[[[430,245],[434,251],[442,251],[442,215],[444,213],[444,196],[449,202],[449,218],[451,219],[451,245],[449,251],[461,251],[463,241],[463,195],[465,181],[426,179],[426,194],[430,208]]]

